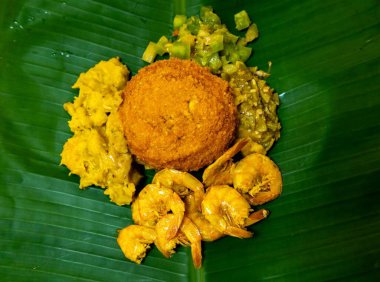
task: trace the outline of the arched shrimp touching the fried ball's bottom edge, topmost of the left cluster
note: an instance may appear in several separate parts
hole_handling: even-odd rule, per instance
[[[199,206],[204,197],[202,182],[188,172],[165,168],[156,173],[152,183],[171,188],[181,197],[189,195],[192,191]]]

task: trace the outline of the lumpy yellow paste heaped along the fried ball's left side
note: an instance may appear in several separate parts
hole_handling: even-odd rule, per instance
[[[101,61],[82,73],[73,85],[79,95],[64,109],[70,114],[74,135],[61,153],[61,164],[80,177],[81,189],[105,188],[112,202],[130,204],[141,175],[132,156],[117,113],[129,71],[118,58]]]

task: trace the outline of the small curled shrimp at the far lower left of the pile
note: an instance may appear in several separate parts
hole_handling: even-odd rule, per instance
[[[124,255],[140,264],[144,259],[147,250],[156,240],[156,232],[153,228],[140,225],[129,225],[119,231],[117,243]]]

